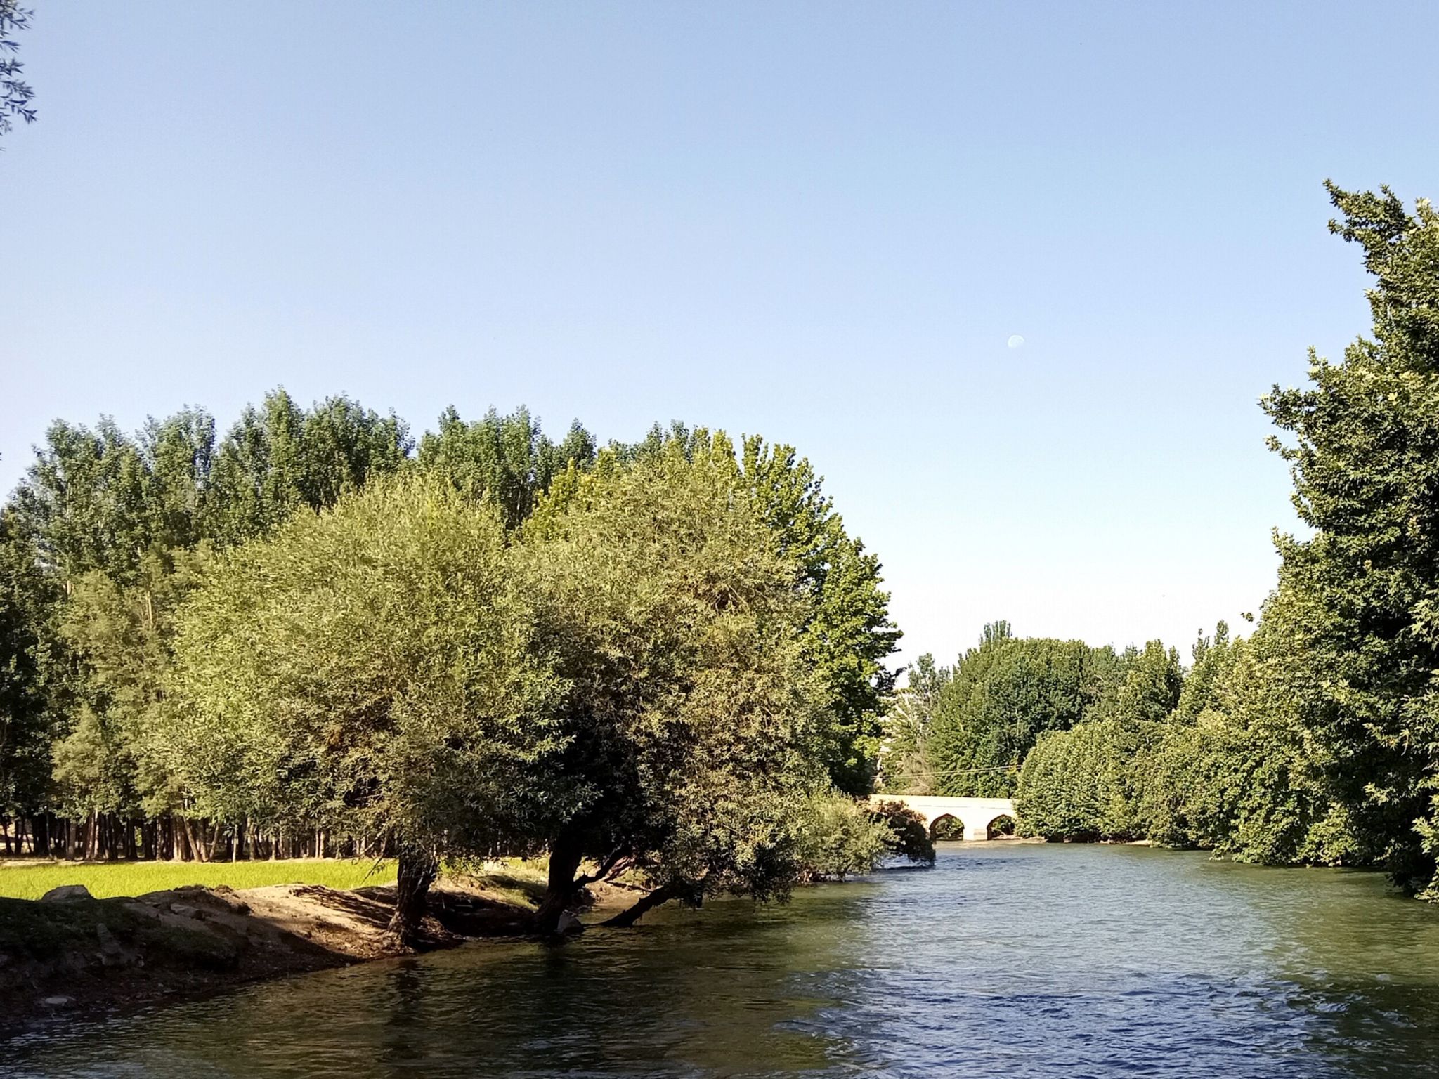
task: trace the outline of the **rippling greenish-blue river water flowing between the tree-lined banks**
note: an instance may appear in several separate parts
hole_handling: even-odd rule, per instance
[[[1439,908],[1144,847],[941,844],[783,906],[656,911],[0,1047],[0,1075],[1439,1076]]]

